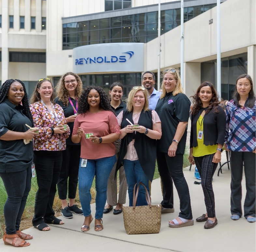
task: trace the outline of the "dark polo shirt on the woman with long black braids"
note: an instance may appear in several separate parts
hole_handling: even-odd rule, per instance
[[[16,106],[8,99],[0,104],[0,136],[8,130],[26,132],[29,118],[24,115],[23,107]],[[5,141],[0,140],[0,172],[15,172],[26,170],[33,161],[33,141],[25,145],[23,139]]]

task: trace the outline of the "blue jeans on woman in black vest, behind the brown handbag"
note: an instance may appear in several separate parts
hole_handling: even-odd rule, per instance
[[[145,175],[139,160],[131,161],[123,159],[123,167],[128,183],[128,195],[129,195],[129,206],[133,206],[133,189],[137,182],[142,182],[149,192],[149,179]],[[136,188],[137,190],[137,188]],[[136,202],[136,206],[147,206],[146,191],[144,186],[139,185],[139,194]]]

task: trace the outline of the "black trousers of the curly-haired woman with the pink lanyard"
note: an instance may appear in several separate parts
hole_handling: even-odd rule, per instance
[[[62,151],[62,166],[57,184],[60,199],[66,199],[67,192],[69,199],[76,197],[80,153],[80,145],[67,145]]]

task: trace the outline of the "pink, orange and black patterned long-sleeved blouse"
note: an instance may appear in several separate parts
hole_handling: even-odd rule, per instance
[[[63,124],[63,121],[67,124],[62,107],[58,104],[54,105],[57,119],[50,114],[47,107],[41,102],[31,104],[29,107],[35,127],[39,128],[40,134],[34,137],[34,150],[65,150],[66,138],[70,135],[70,131],[63,134],[54,133],[51,135],[51,127],[55,128],[59,124]]]

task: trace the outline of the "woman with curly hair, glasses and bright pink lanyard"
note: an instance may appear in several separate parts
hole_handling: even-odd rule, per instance
[[[55,103],[59,104],[64,111],[67,125],[72,135],[74,121],[77,117],[78,99],[82,93],[82,81],[80,77],[73,73],[65,73],[59,80],[56,87],[57,98]],[[63,151],[61,173],[58,180],[58,193],[62,203],[61,214],[68,219],[73,218],[73,214],[82,215],[83,211],[75,205],[75,197],[78,184],[78,170],[80,161],[81,146],[71,141],[71,137],[66,140],[66,149]],[[67,189],[68,188],[68,189]],[[68,203],[67,203],[68,192]]]

